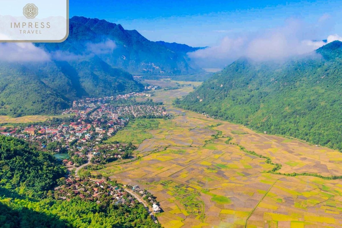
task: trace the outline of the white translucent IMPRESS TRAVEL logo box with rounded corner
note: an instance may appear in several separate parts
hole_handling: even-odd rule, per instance
[[[0,43],[63,42],[69,35],[69,0],[6,1],[0,18],[5,18],[0,19]]]

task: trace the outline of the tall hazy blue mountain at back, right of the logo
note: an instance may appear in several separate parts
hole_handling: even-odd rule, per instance
[[[184,75],[201,72],[197,66],[190,64],[186,55],[186,52],[198,48],[149,41],[136,30],[125,30],[120,24],[97,18],[74,16],[69,24],[66,41],[39,46],[49,51],[67,51],[76,55],[89,52],[91,46],[96,55],[110,66],[134,74]],[[103,50],[108,44],[113,45],[111,49]]]

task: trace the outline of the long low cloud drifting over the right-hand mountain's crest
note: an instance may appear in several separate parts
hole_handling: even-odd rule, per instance
[[[279,61],[291,56],[311,53],[326,44],[315,41],[326,29],[322,16],[315,24],[306,24],[298,19],[288,19],[284,26],[254,33],[226,36],[218,45],[188,53],[188,56],[202,67],[223,67],[239,57],[254,61]],[[327,42],[341,40],[338,35],[330,35]]]

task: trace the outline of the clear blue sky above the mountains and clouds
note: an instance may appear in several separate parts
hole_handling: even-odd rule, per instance
[[[97,17],[136,29],[149,40],[212,46],[224,37],[283,26],[287,19],[329,18],[312,39],[341,33],[342,1],[70,0],[70,16]]]

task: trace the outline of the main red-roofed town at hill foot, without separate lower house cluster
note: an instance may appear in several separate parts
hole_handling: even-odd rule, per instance
[[[130,158],[132,145],[111,144],[101,146],[103,141],[123,129],[132,118],[163,118],[167,112],[162,106],[151,104],[128,104],[128,98],[145,96],[144,93],[129,93],[102,98],[86,98],[73,102],[63,111],[68,118],[54,119],[28,127],[0,128],[0,134],[22,138],[41,150],[50,151],[63,158],[67,167],[78,167],[87,163],[103,163]],[[120,104],[112,104],[120,101]],[[123,100],[123,102],[122,102]]]

